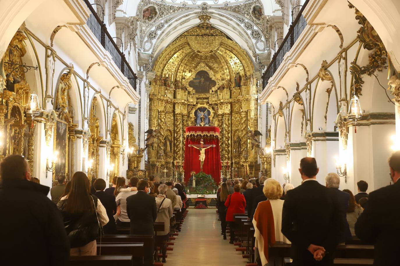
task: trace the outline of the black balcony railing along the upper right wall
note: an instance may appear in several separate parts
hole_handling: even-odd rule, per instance
[[[280,64],[283,61],[283,57],[285,54],[292,49],[294,43],[297,41],[300,34],[307,26],[306,19],[303,17],[302,13],[306,5],[308,4],[309,0],[304,2],[302,8],[300,9],[299,14],[297,15],[296,19],[292,22],[289,27],[289,31],[286,34],[286,37],[282,41],[281,45],[279,46],[278,50],[276,50],[274,56],[271,59],[271,63],[268,65],[266,71],[262,75],[262,88],[264,89],[268,84],[268,79],[272,77]]]

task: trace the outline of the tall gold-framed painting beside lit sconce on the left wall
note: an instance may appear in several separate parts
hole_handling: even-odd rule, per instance
[[[56,140],[54,151],[58,152],[56,169],[54,170],[55,178],[66,173],[67,160],[67,124],[63,121],[56,123]]]

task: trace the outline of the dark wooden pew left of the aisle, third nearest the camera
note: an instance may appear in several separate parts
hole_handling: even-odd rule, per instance
[[[144,265],[152,266],[154,263],[154,236],[143,234],[105,234],[101,243],[141,243],[144,244]],[[97,239],[100,243],[100,238]]]

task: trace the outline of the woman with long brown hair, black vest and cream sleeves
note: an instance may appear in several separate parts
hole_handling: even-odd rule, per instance
[[[70,183],[70,192],[57,203],[70,240],[70,256],[94,256],[96,238],[109,221],[107,212],[100,200],[90,195],[89,179],[84,172],[74,173]]]

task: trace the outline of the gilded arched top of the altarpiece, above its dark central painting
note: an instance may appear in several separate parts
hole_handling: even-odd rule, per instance
[[[201,18],[202,16],[200,16]],[[250,82],[254,65],[235,41],[211,26],[209,16],[203,16],[198,26],[187,30],[162,51],[154,61],[155,79],[176,82],[189,88],[189,81],[198,71],[206,71],[220,86],[231,87],[236,75]]]

